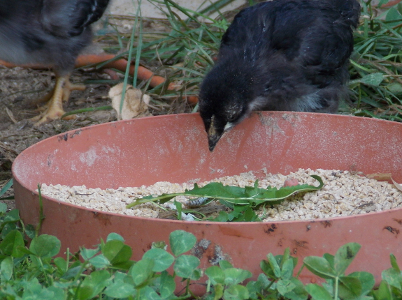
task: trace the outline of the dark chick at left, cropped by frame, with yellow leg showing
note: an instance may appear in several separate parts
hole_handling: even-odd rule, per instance
[[[90,24],[99,20],[109,0],[0,0],[0,59],[49,66],[55,89],[38,123],[59,119],[70,91],[85,89],[69,82],[80,51],[92,39]]]

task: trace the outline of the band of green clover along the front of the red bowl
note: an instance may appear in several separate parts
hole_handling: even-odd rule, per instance
[[[123,237],[111,233],[94,248],[82,247],[78,253],[67,248],[65,255],[59,256],[61,243],[57,237],[35,234],[33,226],[24,226],[17,209],[6,212],[6,205],[0,204],[0,299],[402,299],[402,272],[394,255],[390,256],[392,267],[382,272],[377,288],[371,273],[346,275],[361,247],[358,243],[341,246],[335,255],[305,257],[298,273],[298,260],[290,255],[289,248],[283,255],[269,253],[261,261],[259,276],[226,260],[203,271],[199,258],[189,254],[195,245],[194,234],[176,230],[168,243],[152,243],[135,262]],[[305,267],[326,281],[304,285],[299,274]],[[250,280],[253,275],[257,280]],[[179,282],[185,283],[180,291]],[[205,286],[205,294],[194,295],[194,284]]]

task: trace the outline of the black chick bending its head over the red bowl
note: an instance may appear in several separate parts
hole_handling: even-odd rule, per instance
[[[210,151],[252,110],[335,113],[359,13],[356,0],[273,0],[241,10],[201,84]]]

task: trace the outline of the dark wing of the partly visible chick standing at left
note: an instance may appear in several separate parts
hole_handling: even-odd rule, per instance
[[[41,24],[54,36],[79,36],[103,15],[109,0],[43,0]]]

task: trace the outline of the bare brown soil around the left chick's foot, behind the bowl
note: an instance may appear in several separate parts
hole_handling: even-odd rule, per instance
[[[119,74],[114,74],[119,75]],[[119,75],[122,78],[122,75]],[[84,83],[87,80],[110,80],[108,73],[94,72],[93,69],[76,70],[71,82]],[[55,75],[51,70],[31,70],[27,68],[5,68],[0,66],[0,190],[11,179],[11,165],[15,157],[24,149],[52,135],[68,130],[117,120],[115,110],[97,110],[76,115],[72,120],[55,120],[41,126],[34,126],[30,119],[40,114],[41,107],[33,105],[52,90]],[[86,84],[85,91],[72,91],[69,103],[64,104],[66,112],[88,107],[111,105],[108,91],[110,84]],[[189,112],[191,107],[183,103],[166,102],[152,114]],[[13,195],[10,188],[6,195]],[[2,200],[8,209],[14,208],[13,200]]]

